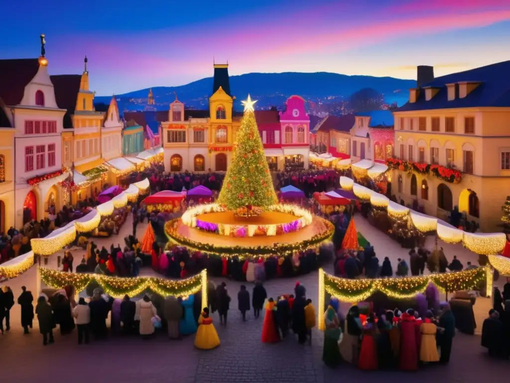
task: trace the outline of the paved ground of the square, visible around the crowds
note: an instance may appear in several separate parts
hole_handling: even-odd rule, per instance
[[[379,257],[387,252],[392,262],[396,262],[396,258],[407,254],[408,250],[399,248],[363,218],[356,217],[356,225],[374,245]],[[121,238],[131,229],[129,220],[122,228],[118,242],[121,242]],[[144,228],[139,226],[139,233],[143,233],[143,230]],[[100,246],[103,243],[109,246],[111,242],[112,238],[97,241]],[[444,248],[448,258],[454,251],[459,257],[469,256],[462,255],[462,247]],[[74,254],[75,259],[79,260],[79,252]],[[55,259],[55,256],[50,258],[50,266],[55,265]],[[465,259],[468,258],[461,258],[461,261],[465,262]],[[29,290],[35,291],[35,276],[34,268],[4,284],[13,288],[17,298],[23,284]],[[222,280],[214,279],[216,283]],[[316,303],[317,275],[309,274],[299,280],[306,286],[307,296]],[[295,281],[296,279],[274,279],[265,286],[268,295],[276,297],[291,293]],[[90,382],[92,379],[94,383],[321,383],[344,379],[362,382],[412,379],[414,382],[430,383],[438,380],[478,382],[487,379],[488,373],[492,379],[498,381],[504,379],[508,373],[508,362],[494,361],[484,355],[478,336],[460,333],[454,339],[449,366],[427,366],[419,373],[411,375],[400,371],[368,373],[347,365],[330,370],[321,361],[322,334],[318,331],[314,332],[312,346],[298,345],[292,335],[279,344],[262,344],[260,337],[263,318],[255,320],[250,313],[248,321],[242,322],[236,299],[241,283],[228,280],[226,283],[233,298],[228,324],[226,327],[220,326],[217,315],[213,316],[221,346],[211,351],[194,349],[193,336],[182,341],[169,341],[162,333],[148,341],[143,341],[140,337],[115,338],[83,346],[77,344],[76,331],[64,337],[57,333],[55,344],[44,347],[37,326],[34,326],[32,334],[23,336],[19,326],[19,306],[16,304],[11,314],[12,330],[4,337],[0,336],[0,350],[6,352],[2,352],[0,358],[3,362],[0,364],[1,380],[40,383],[53,382],[56,378],[75,383]],[[248,290],[251,293],[251,285],[248,285]],[[34,324],[36,323],[37,321]]]

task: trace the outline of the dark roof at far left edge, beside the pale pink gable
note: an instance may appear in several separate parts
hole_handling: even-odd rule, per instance
[[[5,105],[18,105],[25,86],[39,70],[38,59],[0,60],[0,99]]]

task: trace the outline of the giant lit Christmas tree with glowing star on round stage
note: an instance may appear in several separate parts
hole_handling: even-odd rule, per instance
[[[243,101],[244,116],[237,134],[237,146],[218,197],[218,203],[229,210],[278,203],[255,121],[254,103],[256,101],[251,101],[249,94],[248,100]]]

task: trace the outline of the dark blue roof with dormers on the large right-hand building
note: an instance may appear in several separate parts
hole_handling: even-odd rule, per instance
[[[474,108],[474,107],[510,107],[510,61],[481,66],[451,75],[441,76],[426,83],[423,87],[439,88],[431,100],[425,100],[425,91],[420,91],[415,103],[407,102],[397,112],[424,109]],[[465,98],[455,97],[448,101],[446,84],[458,82],[481,82]],[[458,85],[457,85],[458,86]]]

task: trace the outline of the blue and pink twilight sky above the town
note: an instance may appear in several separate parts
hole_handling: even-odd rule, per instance
[[[30,10],[28,12],[27,10]],[[510,60],[509,0],[35,0],[2,4],[0,59],[38,57],[98,95],[213,74],[328,71],[416,78]]]

